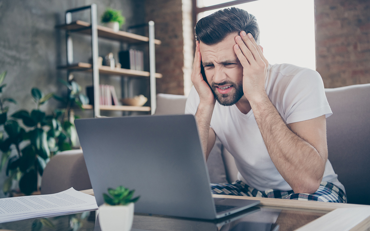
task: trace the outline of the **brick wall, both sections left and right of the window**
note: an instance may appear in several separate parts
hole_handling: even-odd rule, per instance
[[[146,1],[147,21],[155,22],[155,37],[162,41],[156,47],[157,72],[163,74],[158,93],[187,93],[185,1]],[[370,83],[370,0],[315,0],[315,8],[316,70],[325,87]]]

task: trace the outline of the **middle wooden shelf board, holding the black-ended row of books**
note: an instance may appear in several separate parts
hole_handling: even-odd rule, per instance
[[[78,71],[91,71],[91,64],[86,62],[78,62],[76,64],[71,64],[67,66],[60,66],[59,69],[70,69]],[[110,75],[128,75],[134,77],[149,77],[150,73],[148,71],[137,71],[124,68],[114,68],[111,69],[108,66],[100,66],[99,73],[101,74],[110,74]],[[162,74],[155,73],[155,78],[162,78]]]

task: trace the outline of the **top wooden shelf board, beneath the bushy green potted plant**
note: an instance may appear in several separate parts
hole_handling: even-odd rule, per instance
[[[56,26],[56,28],[59,28],[59,29],[65,29],[65,30],[71,30],[71,31],[77,30],[78,33],[82,33],[82,34],[91,34],[90,27],[91,27],[90,23],[87,23],[81,20],[74,21],[70,24],[62,24],[62,25]],[[97,27],[98,27],[98,37],[109,38],[112,40],[128,42],[128,43],[148,43],[149,42],[149,38],[142,36],[142,35],[133,34],[133,33],[129,33],[126,31],[115,32],[113,29],[109,27],[104,27],[100,25],[98,25]],[[162,42],[161,40],[155,39],[154,43],[157,45],[160,45]]]

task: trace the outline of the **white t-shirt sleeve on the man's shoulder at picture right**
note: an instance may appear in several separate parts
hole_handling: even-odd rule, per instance
[[[282,106],[286,123],[332,115],[320,74],[311,69],[298,72],[286,86]]]

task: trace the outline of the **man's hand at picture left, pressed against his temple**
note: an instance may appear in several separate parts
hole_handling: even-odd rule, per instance
[[[199,41],[196,41],[196,48],[195,48],[195,57],[193,63],[193,71],[191,73],[191,81],[198,92],[200,102],[203,104],[214,105],[215,104],[215,96],[209,85],[204,81],[203,76],[201,74],[201,61],[202,56],[199,47]]]

